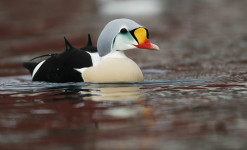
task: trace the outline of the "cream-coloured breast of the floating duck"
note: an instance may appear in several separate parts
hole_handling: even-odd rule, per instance
[[[85,69],[84,82],[142,82],[143,75],[129,58],[105,58],[98,65]]]

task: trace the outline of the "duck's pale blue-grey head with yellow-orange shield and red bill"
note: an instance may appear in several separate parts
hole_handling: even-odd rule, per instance
[[[139,29],[139,30],[138,30]],[[109,22],[101,32],[97,48],[99,55],[133,48],[158,49],[148,40],[148,30],[130,19],[116,19]]]

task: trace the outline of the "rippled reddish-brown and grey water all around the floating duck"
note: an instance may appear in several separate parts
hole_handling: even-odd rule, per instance
[[[246,0],[1,0],[0,150],[246,150]],[[31,82],[22,62],[96,45],[130,18],[159,52],[126,52],[145,82]]]

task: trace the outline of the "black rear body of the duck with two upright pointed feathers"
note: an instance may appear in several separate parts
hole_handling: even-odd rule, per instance
[[[72,47],[65,38],[65,51],[61,54],[49,54],[49,58],[41,65],[32,80],[56,83],[83,82],[81,73],[75,69],[92,66],[92,59],[88,52],[97,52],[97,48],[92,45],[90,35],[88,38],[88,44],[80,49]],[[31,74],[37,65],[38,63],[32,60],[23,63],[23,66],[27,68]]]

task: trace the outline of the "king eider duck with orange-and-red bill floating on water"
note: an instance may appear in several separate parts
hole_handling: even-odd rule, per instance
[[[149,40],[147,28],[133,20],[121,18],[105,25],[93,46],[91,36],[82,48],[73,47],[64,37],[65,50],[62,53],[46,54],[24,62],[32,81],[44,82],[92,82],[120,83],[143,82],[139,66],[125,55],[126,50],[159,50]],[[40,62],[33,60],[48,56]]]

